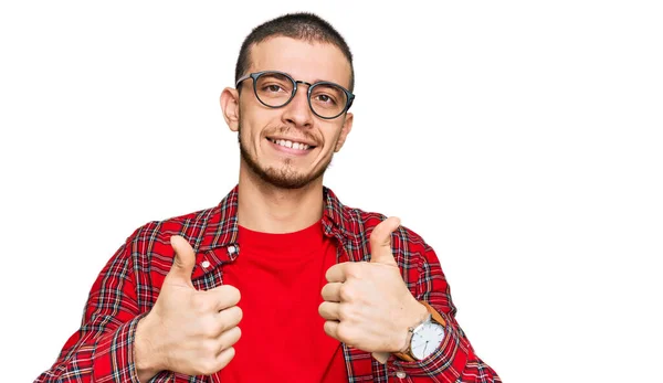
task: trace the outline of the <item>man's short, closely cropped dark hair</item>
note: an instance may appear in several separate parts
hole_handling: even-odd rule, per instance
[[[350,47],[329,22],[309,12],[287,13],[254,28],[246,39],[244,39],[240,49],[240,56],[235,65],[235,83],[249,70],[251,45],[273,36],[285,36],[336,45],[350,63],[349,91],[351,92],[355,88],[355,67],[352,65]]]

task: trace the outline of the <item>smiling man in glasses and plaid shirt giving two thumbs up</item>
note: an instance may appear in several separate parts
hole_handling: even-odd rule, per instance
[[[308,13],[271,20],[235,79],[220,102],[238,187],[129,236],[36,381],[499,382],[455,321],[433,249],[323,185],[352,127],[338,32]]]

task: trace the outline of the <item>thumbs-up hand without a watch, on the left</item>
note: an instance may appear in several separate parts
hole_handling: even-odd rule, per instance
[[[196,254],[181,236],[170,237],[175,260],[151,311],[136,328],[135,362],[140,382],[159,371],[210,375],[234,357],[240,339],[240,291],[220,286],[196,290],[191,273]]]

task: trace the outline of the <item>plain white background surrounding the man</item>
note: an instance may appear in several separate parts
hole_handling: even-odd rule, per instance
[[[234,185],[218,96],[297,10],[355,54],[326,184],[435,248],[477,354],[512,383],[661,379],[654,3],[2,2],[0,380],[50,368],[136,227]]]

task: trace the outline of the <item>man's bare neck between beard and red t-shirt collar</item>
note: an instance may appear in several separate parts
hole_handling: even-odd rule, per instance
[[[263,233],[292,233],[323,217],[323,178],[301,189],[281,189],[240,166],[238,220]]]

